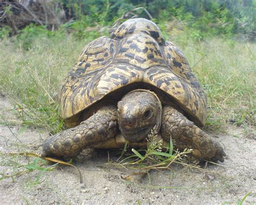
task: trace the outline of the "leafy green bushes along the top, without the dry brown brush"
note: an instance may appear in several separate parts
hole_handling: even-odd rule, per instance
[[[78,39],[87,38],[86,28],[111,26],[124,13],[143,6],[151,14],[153,21],[165,31],[166,24],[181,21],[190,38],[201,40],[211,36],[237,37],[255,40],[256,1],[254,0],[58,0],[69,11],[72,20],[52,32],[51,25],[30,24],[19,30],[18,38],[26,49],[33,43],[33,37],[46,35],[49,38],[65,37],[72,33]],[[12,15],[10,6],[4,10]],[[57,11],[58,12],[58,11]],[[60,11],[59,11],[60,12]],[[139,17],[149,18],[141,9]],[[48,29],[48,30],[46,30]],[[0,28],[0,37],[12,33],[10,26]],[[94,37],[99,36],[95,33]],[[93,38],[93,37],[92,37]],[[30,43],[29,43],[30,42]]]

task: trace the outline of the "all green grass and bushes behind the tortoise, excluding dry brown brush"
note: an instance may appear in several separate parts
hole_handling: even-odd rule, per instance
[[[23,125],[64,128],[58,91],[79,52],[91,40],[109,36],[125,13],[149,19],[177,44],[208,94],[207,125],[255,126],[254,0],[58,0],[72,20],[53,29],[32,22],[13,35],[0,28],[0,91],[14,102]],[[12,15],[10,7],[4,8]],[[130,13],[131,15],[131,13]],[[125,19],[120,19],[122,22]],[[216,126],[215,126],[216,125]]]

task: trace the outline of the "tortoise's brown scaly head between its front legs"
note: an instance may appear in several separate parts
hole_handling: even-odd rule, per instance
[[[118,125],[124,137],[132,142],[147,137],[153,129],[159,132],[162,107],[157,95],[147,90],[134,90],[118,102]]]

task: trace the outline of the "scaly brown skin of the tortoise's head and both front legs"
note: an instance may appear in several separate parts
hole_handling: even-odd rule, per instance
[[[149,110],[151,114],[146,113]],[[169,142],[172,138],[175,148],[193,149],[193,158],[224,161],[223,156],[226,154],[218,142],[176,108],[166,105],[162,112],[156,94],[146,90],[127,93],[119,101],[118,109],[113,105],[102,106],[79,126],[50,136],[43,144],[42,156],[65,159],[77,156],[85,148],[122,147],[125,138],[134,146],[144,146],[143,140],[145,142],[147,134],[155,125],[158,127],[157,132],[160,128],[165,141]],[[121,138],[117,137],[118,126],[122,132]]]

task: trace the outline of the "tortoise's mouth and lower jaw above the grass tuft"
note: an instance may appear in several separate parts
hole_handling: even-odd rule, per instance
[[[138,142],[147,137],[151,131],[150,127],[137,128],[137,129],[122,129],[124,137],[131,142]]]

